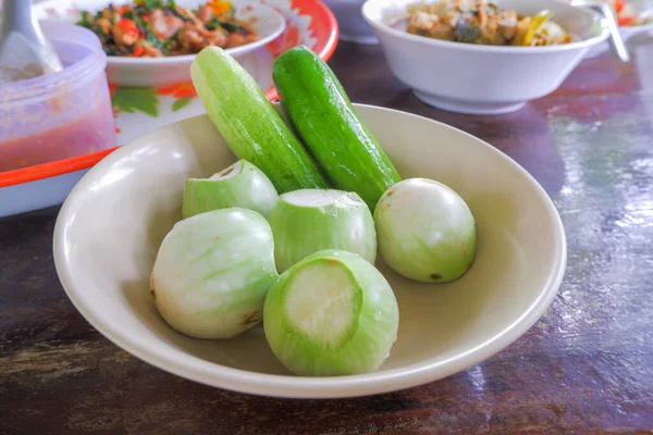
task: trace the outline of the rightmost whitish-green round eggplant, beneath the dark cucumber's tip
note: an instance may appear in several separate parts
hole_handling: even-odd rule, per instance
[[[463,276],[476,256],[476,221],[449,187],[405,179],[383,194],[374,210],[379,253],[398,274],[423,283]]]

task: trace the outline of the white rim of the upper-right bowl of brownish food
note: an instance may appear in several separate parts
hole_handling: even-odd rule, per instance
[[[424,36],[412,35],[407,32],[402,32],[399,29],[393,28],[389,24],[384,23],[381,20],[375,20],[371,14],[371,10],[373,7],[377,7],[374,3],[381,0],[366,0],[360,7],[360,11],[362,17],[368,22],[370,26],[375,28],[379,32],[382,32],[386,35],[394,37],[395,39],[403,39],[406,41],[421,44],[422,46],[431,46],[439,47],[443,49],[457,49],[461,51],[470,51],[470,52],[480,52],[480,53],[513,53],[513,54],[535,54],[535,53],[551,53],[551,52],[562,52],[562,51],[570,51],[578,50],[582,48],[588,48],[595,46],[597,44],[603,42],[609,37],[609,28],[607,26],[607,22],[605,17],[603,17],[600,13],[592,11],[590,9],[581,9],[575,8],[570,4],[566,4],[563,2],[557,2],[554,0],[546,0],[546,2],[555,3],[560,8],[569,10],[581,10],[584,13],[590,15],[594,15],[597,21],[601,23],[601,35],[593,36],[591,38],[581,39],[579,41],[572,41],[569,44],[562,44],[555,46],[543,46],[543,47],[513,47],[513,46],[484,46],[478,44],[463,44],[456,41],[447,41],[441,39],[427,38]],[[416,0],[417,2],[417,0]],[[374,11],[383,10],[381,7],[377,7]]]

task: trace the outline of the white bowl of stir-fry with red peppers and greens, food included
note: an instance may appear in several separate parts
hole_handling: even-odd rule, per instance
[[[36,7],[39,18],[46,13],[50,20],[51,10],[97,35],[109,82],[122,86],[189,82],[190,62],[201,49],[220,47],[239,59],[273,41],[286,25],[281,13],[257,0],[49,0]]]

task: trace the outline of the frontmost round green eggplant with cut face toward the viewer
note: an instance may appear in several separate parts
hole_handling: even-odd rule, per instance
[[[370,373],[390,356],[399,309],[381,272],[346,251],[316,252],[270,288],[263,328],[276,358],[294,374]]]

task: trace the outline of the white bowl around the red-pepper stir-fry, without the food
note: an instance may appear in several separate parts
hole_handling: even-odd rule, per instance
[[[114,5],[133,3],[133,0],[114,0]],[[176,3],[185,8],[197,8],[204,3],[200,0],[176,0]],[[65,9],[75,7],[79,10],[88,10],[95,13],[109,4],[109,0],[50,0],[36,4],[35,13],[40,20],[63,18],[69,21],[70,13]],[[239,59],[243,55],[263,47],[274,40],[285,29],[285,18],[269,5],[256,1],[233,0],[236,17],[251,23],[251,26],[260,39],[241,47],[230,48],[226,51]],[[61,11],[60,11],[61,10]],[[61,12],[61,13],[60,13]],[[167,86],[178,83],[190,82],[190,63],[195,54],[174,55],[168,58],[121,58],[107,57],[107,78],[109,83],[119,86]]]

